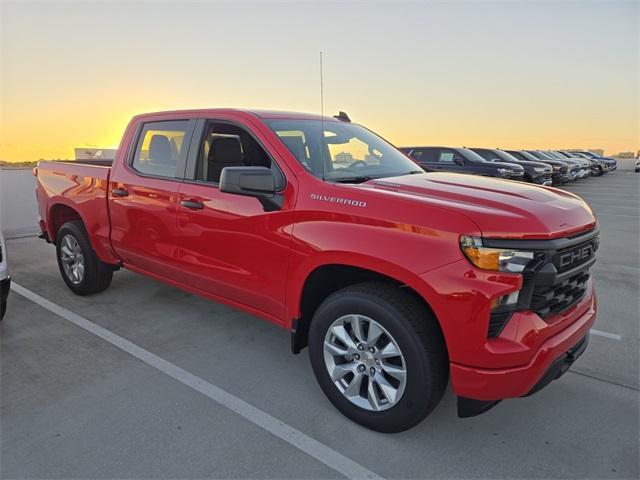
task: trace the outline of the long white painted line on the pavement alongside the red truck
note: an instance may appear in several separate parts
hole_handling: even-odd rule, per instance
[[[284,440],[291,446],[303,451],[307,455],[324,463],[329,468],[344,475],[347,478],[372,478],[383,480],[382,477],[366,469],[362,465],[350,460],[344,455],[318,442],[310,436],[299,430],[287,425],[286,423],[272,417],[266,412],[254,407],[250,403],[236,397],[235,395],[217,387],[200,377],[197,377],[186,370],[170,363],[157,355],[139,347],[135,343],[126,340],[115,333],[102,328],[99,325],[81,317],[77,313],[73,313],[60,305],[57,305],[44,297],[24,288],[13,282],[11,289],[23,297],[37,303],[41,307],[49,310],[51,313],[73,323],[74,325],[86,330],[89,333],[102,338],[111,345],[118,347],[120,350],[133,355],[138,360],[142,360],[147,365],[160,370],[169,375],[180,383],[206,395],[210,399],[237,413],[241,417],[249,420],[255,425],[263,428],[267,432]],[[346,420],[345,420],[346,421]]]

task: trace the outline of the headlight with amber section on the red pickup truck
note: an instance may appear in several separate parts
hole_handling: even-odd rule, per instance
[[[469,261],[483,270],[520,273],[533,260],[533,252],[482,246],[482,238],[460,237],[460,247]]]

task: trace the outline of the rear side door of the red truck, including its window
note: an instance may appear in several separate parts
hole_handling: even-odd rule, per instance
[[[195,120],[141,123],[131,149],[111,174],[111,244],[134,269],[175,278],[178,181],[184,178]]]

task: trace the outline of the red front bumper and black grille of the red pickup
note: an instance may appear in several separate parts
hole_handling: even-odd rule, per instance
[[[598,229],[552,240],[484,243],[496,248],[517,243],[536,254],[522,274],[481,270],[463,260],[421,277],[436,293],[424,296],[447,342],[453,391],[486,407],[534,391],[553,362],[588,335],[596,318],[589,272]],[[516,291],[515,304],[492,306]]]

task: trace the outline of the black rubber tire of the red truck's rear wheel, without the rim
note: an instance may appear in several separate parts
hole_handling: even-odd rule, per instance
[[[73,283],[65,273],[61,259],[61,245],[66,235],[71,235],[75,239],[84,257],[84,275],[82,280],[77,284]],[[102,292],[111,284],[113,266],[102,262],[96,256],[89,242],[84,225],[80,220],[67,222],[60,227],[56,235],[56,256],[62,279],[67,284],[67,287],[76,295],[91,295]]]

